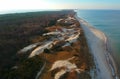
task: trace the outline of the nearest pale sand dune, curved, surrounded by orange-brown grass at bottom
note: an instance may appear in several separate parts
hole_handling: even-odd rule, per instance
[[[74,59],[74,57],[69,58],[67,60],[58,60],[56,62],[54,62],[54,64],[52,65],[52,68],[50,69],[50,71],[57,69],[57,68],[62,68],[64,67],[64,69],[61,69],[59,72],[57,72],[55,74],[54,79],[60,79],[60,77],[62,75],[64,75],[67,72],[72,72],[73,70],[76,71],[77,73],[80,73],[80,71],[82,69],[78,69],[76,64],[71,63],[70,60]]]

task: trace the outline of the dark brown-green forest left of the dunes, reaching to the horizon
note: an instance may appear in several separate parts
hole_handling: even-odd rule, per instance
[[[57,19],[68,13],[74,12],[68,10],[0,15],[0,79],[5,79],[12,67],[26,59],[19,58],[17,52],[20,49],[47,39],[48,37],[41,37],[43,33],[48,32],[45,28],[55,25]]]

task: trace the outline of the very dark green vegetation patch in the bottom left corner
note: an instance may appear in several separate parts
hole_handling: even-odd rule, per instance
[[[35,79],[43,66],[43,60],[39,56],[25,59],[19,65],[2,72],[3,79]]]

